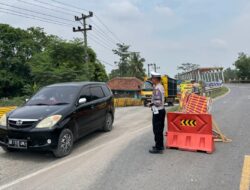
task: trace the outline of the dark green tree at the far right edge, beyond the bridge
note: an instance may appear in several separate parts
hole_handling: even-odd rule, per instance
[[[250,79],[250,57],[245,53],[239,53],[238,59],[234,63],[238,77]]]

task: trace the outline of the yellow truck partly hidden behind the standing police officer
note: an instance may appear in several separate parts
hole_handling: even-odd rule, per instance
[[[177,97],[177,80],[164,75],[161,77],[162,85],[165,89],[165,102],[168,105],[174,105],[175,98]],[[144,106],[146,106],[152,98],[153,94],[153,83],[151,78],[145,78],[144,84],[141,89],[142,100],[144,101]]]

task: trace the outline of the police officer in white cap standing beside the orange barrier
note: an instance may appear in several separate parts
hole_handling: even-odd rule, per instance
[[[155,137],[155,146],[153,146],[149,152],[152,154],[161,154],[164,150],[163,130],[166,115],[166,110],[164,107],[165,90],[161,84],[161,74],[151,72],[151,76],[154,89],[150,106],[153,112],[153,132]]]

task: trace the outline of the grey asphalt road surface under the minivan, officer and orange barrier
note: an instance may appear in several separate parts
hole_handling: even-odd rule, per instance
[[[167,149],[151,155],[150,110],[120,108],[111,133],[89,135],[66,158],[0,150],[0,189],[239,189],[244,156],[250,154],[250,85],[229,87],[214,102],[213,117],[233,141],[216,143],[213,154]]]

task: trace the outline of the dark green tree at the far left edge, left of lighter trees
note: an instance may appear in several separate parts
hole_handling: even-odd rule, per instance
[[[27,60],[33,55],[29,34],[0,24],[0,97],[15,96],[30,79]]]

